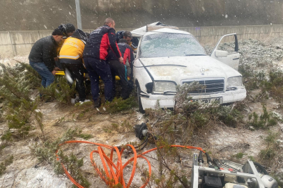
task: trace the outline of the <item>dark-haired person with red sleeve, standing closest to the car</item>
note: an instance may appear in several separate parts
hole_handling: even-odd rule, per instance
[[[112,50],[109,51],[109,56],[107,58],[107,62],[110,65],[110,70],[112,73],[112,81],[113,81],[113,89],[112,89],[112,96],[114,97],[116,95],[115,91],[115,77],[118,75],[118,77],[121,80],[121,97],[123,100],[127,99],[130,95],[130,86],[128,83],[128,71],[127,66],[125,65],[126,62],[130,64],[130,68],[132,69],[132,63],[134,61],[134,51],[132,50],[132,47],[127,45],[128,41],[125,39],[120,39],[118,43],[118,47],[120,49],[120,52],[123,57],[123,63],[120,63],[118,61],[118,58],[115,56],[114,52]],[[132,79],[132,73],[131,73],[131,79]]]

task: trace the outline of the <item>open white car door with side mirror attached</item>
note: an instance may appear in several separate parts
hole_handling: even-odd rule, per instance
[[[238,70],[240,53],[238,52],[238,38],[236,33],[231,33],[220,38],[211,54],[212,58]]]

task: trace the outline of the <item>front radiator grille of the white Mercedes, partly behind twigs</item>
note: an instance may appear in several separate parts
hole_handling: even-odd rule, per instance
[[[195,80],[197,81],[197,80]],[[193,81],[183,81],[183,84],[191,84]],[[224,79],[210,79],[210,80],[199,80],[199,84],[206,86],[204,89],[197,91],[190,91],[190,94],[211,94],[224,92]]]

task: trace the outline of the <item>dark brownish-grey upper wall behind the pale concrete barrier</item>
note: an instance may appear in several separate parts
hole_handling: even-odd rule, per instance
[[[77,26],[75,0],[0,0],[0,31],[52,30]],[[80,0],[82,28],[113,17],[117,28],[153,22],[174,26],[283,24],[282,0]]]

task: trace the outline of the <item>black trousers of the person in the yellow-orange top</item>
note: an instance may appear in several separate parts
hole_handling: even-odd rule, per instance
[[[79,93],[79,100],[86,99],[86,88],[84,86],[84,65],[82,63],[61,63],[65,75],[70,75],[72,81],[76,81],[76,90]],[[68,80],[68,79],[67,79]],[[72,84],[68,80],[69,84]]]

